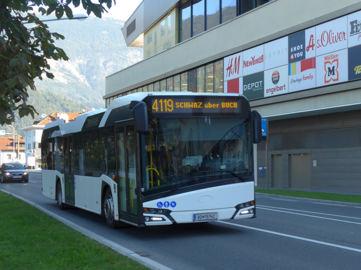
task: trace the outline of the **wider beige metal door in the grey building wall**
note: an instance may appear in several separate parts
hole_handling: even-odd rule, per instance
[[[311,154],[290,155],[290,188],[312,189]]]

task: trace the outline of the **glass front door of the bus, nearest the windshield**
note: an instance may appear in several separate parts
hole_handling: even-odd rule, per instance
[[[119,218],[138,225],[134,126],[116,128]]]

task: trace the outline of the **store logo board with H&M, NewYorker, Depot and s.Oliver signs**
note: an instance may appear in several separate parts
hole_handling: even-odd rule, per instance
[[[360,59],[358,11],[225,57],[225,92],[252,100],[359,80]]]

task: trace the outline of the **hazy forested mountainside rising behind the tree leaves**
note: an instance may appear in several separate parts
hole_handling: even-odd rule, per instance
[[[45,17],[44,19],[55,18]],[[65,36],[56,41],[64,49],[68,61],[50,61],[54,80],[43,76],[36,80],[37,91],[29,90],[28,104],[40,114],[55,111],[82,112],[82,109],[105,107],[105,77],[142,59],[143,48],[127,47],[121,28],[124,23],[112,18],[89,17],[84,21],[61,20],[47,22],[49,31]],[[28,24],[31,27],[31,24]],[[15,133],[35,120],[30,116],[12,123]],[[1,130],[12,133],[6,125]]]

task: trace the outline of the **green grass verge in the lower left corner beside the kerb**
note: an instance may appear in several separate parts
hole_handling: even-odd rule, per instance
[[[0,192],[0,269],[149,268]]]

